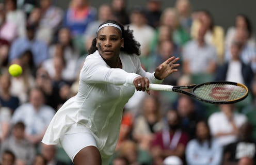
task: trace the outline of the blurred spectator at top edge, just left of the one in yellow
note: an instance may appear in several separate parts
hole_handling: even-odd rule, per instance
[[[175,2],[175,8],[179,13],[181,26],[190,34],[190,28],[192,26],[192,5],[189,0],[177,0]]]

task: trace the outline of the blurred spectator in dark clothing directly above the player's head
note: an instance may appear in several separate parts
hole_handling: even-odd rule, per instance
[[[129,14],[126,11],[126,0],[112,0],[110,4],[115,20],[123,25],[129,24]]]

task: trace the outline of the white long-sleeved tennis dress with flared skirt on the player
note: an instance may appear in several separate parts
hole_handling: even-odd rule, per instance
[[[111,69],[98,51],[87,56],[79,77],[78,93],[56,112],[43,143],[61,145],[61,137],[67,132],[76,134],[90,130],[101,157],[113,155],[123,107],[135,91],[133,80],[146,76],[151,83],[162,82],[141,68],[137,55],[121,53],[120,59],[123,68]]]

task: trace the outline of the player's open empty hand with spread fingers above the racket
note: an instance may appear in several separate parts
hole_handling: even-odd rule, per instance
[[[176,63],[180,58],[177,57],[175,58],[174,56],[168,58],[165,62],[160,64],[156,69],[155,69],[155,78],[157,79],[164,79],[173,72],[177,72],[178,69],[175,69],[178,67],[180,64]]]

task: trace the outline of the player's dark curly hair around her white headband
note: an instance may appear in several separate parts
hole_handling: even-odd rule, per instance
[[[108,21],[102,23],[101,25],[107,24],[107,23],[116,24],[122,30],[121,38],[124,39],[124,46],[121,47],[120,51],[122,51],[122,52],[124,52],[126,54],[129,54],[129,55],[136,54],[136,55],[139,56],[140,55],[140,43],[134,39],[133,30],[130,30],[129,27],[124,29],[123,25],[121,25],[120,23],[118,23],[118,22],[116,22],[114,20],[108,20]],[[98,50],[98,48],[96,47],[96,38],[94,38],[92,40],[91,47],[88,50],[88,53],[92,54],[92,53],[94,53],[97,50]]]

